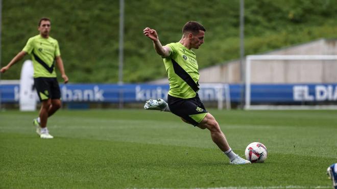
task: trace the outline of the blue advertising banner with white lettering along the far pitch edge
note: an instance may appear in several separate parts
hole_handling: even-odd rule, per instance
[[[213,86],[213,87],[212,87]],[[219,87],[220,86],[220,87]],[[222,87],[224,86],[224,87]],[[231,102],[242,98],[243,85],[208,84],[199,91],[203,101],[225,98],[228,86]],[[168,85],[148,84],[60,84],[63,102],[143,102],[167,98]],[[0,85],[2,103],[19,101],[19,85]],[[337,101],[337,84],[251,85],[251,102]]]

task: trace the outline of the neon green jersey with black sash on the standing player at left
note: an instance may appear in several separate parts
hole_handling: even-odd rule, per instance
[[[55,57],[59,57],[60,48],[56,39],[43,38],[37,35],[29,38],[22,49],[32,56],[34,75],[33,77],[56,77]]]

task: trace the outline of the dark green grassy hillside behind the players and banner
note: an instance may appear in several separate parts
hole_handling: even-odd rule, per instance
[[[65,70],[73,83],[118,81],[117,0],[4,0],[2,66],[38,34],[41,17],[52,20],[51,36],[59,41]],[[337,0],[246,0],[246,55],[337,37]],[[125,0],[124,82],[138,83],[165,76],[162,60],[143,36],[149,26],[161,43],[179,41],[188,20],[201,22],[205,44],[196,50],[199,68],[239,58],[239,1]],[[27,56],[26,59],[30,57]],[[2,79],[18,79],[21,65]]]

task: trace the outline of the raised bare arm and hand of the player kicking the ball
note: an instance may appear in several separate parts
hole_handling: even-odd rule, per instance
[[[156,52],[158,53],[158,55],[160,55],[162,58],[166,58],[170,55],[170,48],[167,46],[162,46],[159,38],[158,38],[158,34],[155,30],[151,29],[151,28],[145,28],[143,30],[143,33],[145,36],[147,36],[148,38],[150,38],[153,41],[153,46],[156,50]]]

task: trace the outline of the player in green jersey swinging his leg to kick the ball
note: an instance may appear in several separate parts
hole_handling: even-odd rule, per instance
[[[205,31],[200,23],[188,21],[182,29],[183,36],[179,42],[162,46],[155,30],[151,28],[143,30],[144,35],[153,41],[158,55],[163,58],[170,82],[168,103],[162,99],[149,100],[145,104],[145,109],[172,112],[186,123],[201,129],[207,128],[213,142],[228,156],[230,164],[250,164],[250,161],[238,156],[229,147],[218,122],[206,111],[198,96],[198,63],[196,54],[191,49],[198,49],[204,43]]]

